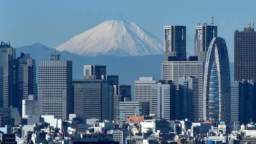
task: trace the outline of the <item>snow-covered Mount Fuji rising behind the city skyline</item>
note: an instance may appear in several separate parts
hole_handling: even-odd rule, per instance
[[[56,46],[81,56],[145,56],[162,54],[162,40],[131,21],[104,21]]]

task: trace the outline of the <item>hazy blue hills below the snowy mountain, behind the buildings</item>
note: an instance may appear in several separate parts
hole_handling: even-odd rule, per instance
[[[30,46],[16,48],[16,57],[24,53],[30,53],[32,58],[38,60],[48,60],[53,52],[43,44],[36,43]],[[73,61],[73,79],[83,78],[83,65],[106,65],[108,75],[119,75],[119,84],[129,84],[132,86],[134,96],[134,81],[139,77],[153,76],[156,80],[161,79],[162,54],[149,56],[96,56],[87,57],[72,54],[67,51],[58,52],[62,60]],[[38,69],[37,69],[38,70]],[[231,81],[234,79],[234,63],[230,63]]]

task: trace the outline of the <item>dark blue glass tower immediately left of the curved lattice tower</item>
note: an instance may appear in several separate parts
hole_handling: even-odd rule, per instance
[[[179,78],[179,119],[198,120],[198,79],[191,76]]]

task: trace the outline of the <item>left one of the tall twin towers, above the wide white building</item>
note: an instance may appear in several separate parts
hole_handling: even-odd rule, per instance
[[[186,26],[164,26],[164,61],[186,60]]]

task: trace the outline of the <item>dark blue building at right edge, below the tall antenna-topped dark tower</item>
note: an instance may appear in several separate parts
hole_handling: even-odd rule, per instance
[[[231,82],[230,97],[231,121],[239,121],[240,124],[256,121],[256,82]]]

